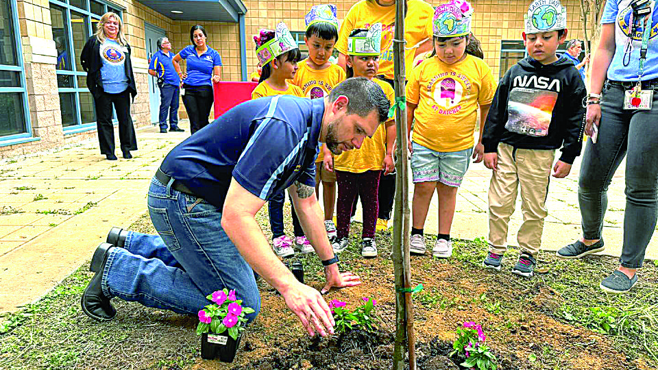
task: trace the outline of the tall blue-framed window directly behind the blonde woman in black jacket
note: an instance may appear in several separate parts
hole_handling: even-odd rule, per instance
[[[96,0],[51,0],[53,40],[57,48],[57,84],[64,133],[96,127],[94,100],[86,85],[87,73],[80,65],[80,53],[95,33],[96,23],[106,12],[122,17],[121,10]]]

